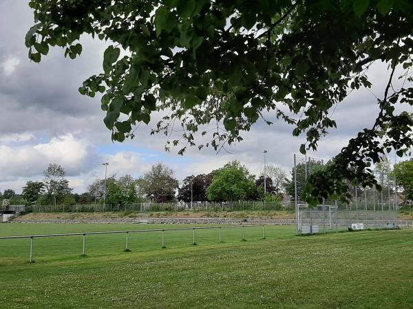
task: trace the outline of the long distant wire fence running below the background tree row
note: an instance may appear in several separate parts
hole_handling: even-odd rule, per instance
[[[234,201],[234,202],[193,202],[191,203],[134,203],[134,204],[90,204],[90,205],[30,205],[26,211],[32,212],[103,212],[103,211],[191,211],[191,210],[282,210],[294,209],[294,205],[277,202]]]

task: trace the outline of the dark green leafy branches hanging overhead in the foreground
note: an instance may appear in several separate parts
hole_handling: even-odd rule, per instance
[[[85,33],[113,43],[103,73],[79,91],[104,93],[104,122],[114,140],[133,137],[136,124],[164,111],[153,133],[182,126],[180,153],[195,146],[197,135],[212,135],[200,148],[218,149],[242,140],[243,131],[273,111],[315,149],[336,125],[332,109],[354,89],[370,87],[368,67],[385,62],[390,72],[376,121],[310,176],[306,200],[345,199],[344,179],[377,185],[370,165],[385,150],[403,155],[413,144],[411,117],[394,111],[397,103],[413,103],[413,89],[392,87],[396,67],[412,81],[411,1],[31,0],[30,7],[36,24],[25,43],[35,62],[54,46],[76,58]],[[211,123],[214,130],[198,132]],[[167,148],[179,140],[168,139]]]

